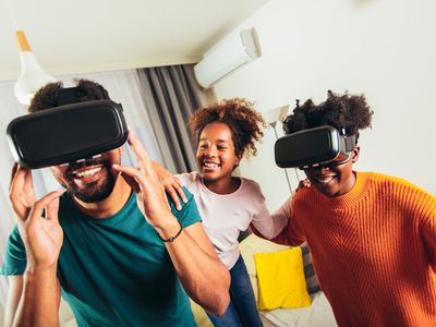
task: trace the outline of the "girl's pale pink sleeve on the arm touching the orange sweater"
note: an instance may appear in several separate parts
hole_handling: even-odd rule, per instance
[[[266,207],[265,197],[262,192],[261,195],[259,210],[253,216],[252,223],[261,234],[270,240],[277,237],[288,225],[291,197],[271,215]]]

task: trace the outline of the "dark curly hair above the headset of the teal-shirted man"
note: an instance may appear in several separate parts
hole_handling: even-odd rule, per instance
[[[74,80],[77,86],[78,102],[109,99],[108,92],[98,83],[88,80]],[[63,88],[62,82],[49,83],[38,89],[32,99],[28,112],[36,112],[60,106],[59,93]]]

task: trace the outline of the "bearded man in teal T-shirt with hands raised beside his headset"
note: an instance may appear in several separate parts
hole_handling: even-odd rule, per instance
[[[62,90],[48,84],[29,111],[59,106]],[[80,80],[74,92],[70,102],[109,98],[90,81]],[[186,293],[215,315],[226,311],[229,272],[193,196],[177,210],[132,132],[128,142],[137,168],[120,166],[123,147],[55,166],[66,192],[39,201],[31,170],[13,172],[17,228],[1,269],[10,275],[5,326],[58,326],[61,293],[78,326],[195,326]]]

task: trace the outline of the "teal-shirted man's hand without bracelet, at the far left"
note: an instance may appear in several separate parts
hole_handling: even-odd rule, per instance
[[[50,269],[58,262],[63,241],[58,210],[59,196],[64,191],[51,192],[35,202],[31,170],[21,167],[14,170],[10,199],[26,247],[27,269]]]

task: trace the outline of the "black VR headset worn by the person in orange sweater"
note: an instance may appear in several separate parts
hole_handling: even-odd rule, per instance
[[[302,130],[276,141],[275,157],[280,168],[306,169],[322,165],[342,165],[351,158],[355,135],[324,125]]]

